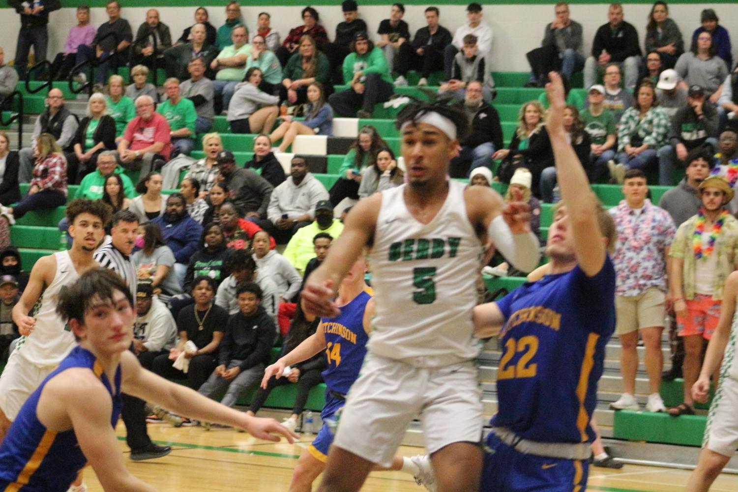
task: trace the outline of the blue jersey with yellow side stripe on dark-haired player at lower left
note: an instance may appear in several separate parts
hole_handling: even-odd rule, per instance
[[[77,472],[86,465],[87,458],[77,444],[74,429],[50,431],[36,417],[38,399],[46,383],[71,367],[86,367],[103,382],[113,399],[110,423],[115,427],[123,404],[120,365],[115,373],[113,395],[110,381],[97,358],[89,350],[77,346],[30,395],[5,436],[0,446],[0,491],[65,492],[77,478]]]

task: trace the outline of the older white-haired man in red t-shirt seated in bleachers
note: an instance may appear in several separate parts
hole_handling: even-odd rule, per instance
[[[140,169],[141,176],[162,167],[172,151],[167,119],[154,111],[151,96],[136,100],[137,117],[128,122],[118,144],[118,156],[125,169]]]

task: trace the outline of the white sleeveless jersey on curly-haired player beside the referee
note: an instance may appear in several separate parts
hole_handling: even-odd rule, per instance
[[[21,336],[15,351],[39,367],[55,366],[75,347],[75,336],[56,313],[59,292],[74,283],[77,274],[68,251],[54,253],[56,273],[34,306],[35,327],[29,336]]]

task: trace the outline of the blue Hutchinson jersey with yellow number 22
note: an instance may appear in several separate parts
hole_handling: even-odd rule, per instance
[[[587,277],[579,266],[526,283],[497,301],[506,319],[492,426],[528,440],[594,440],[605,344],[615,330],[615,268],[610,257]]]

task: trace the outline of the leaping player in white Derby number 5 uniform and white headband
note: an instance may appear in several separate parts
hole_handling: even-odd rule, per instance
[[[461,110],[413,103],[397,125],[408,183],[351,209],[303,290],[306,312],[336,316],[334,289],[369,246],[373,333],[320,491],[358,491],[373,467],[389,467],[418,414],[438,491],[476,491],[482,406],[472,308],[483,245],[492,240],[515,268],[531,271],[538,243],[524,204],[506,206],[491,188],[446,179],[469,126]]]

